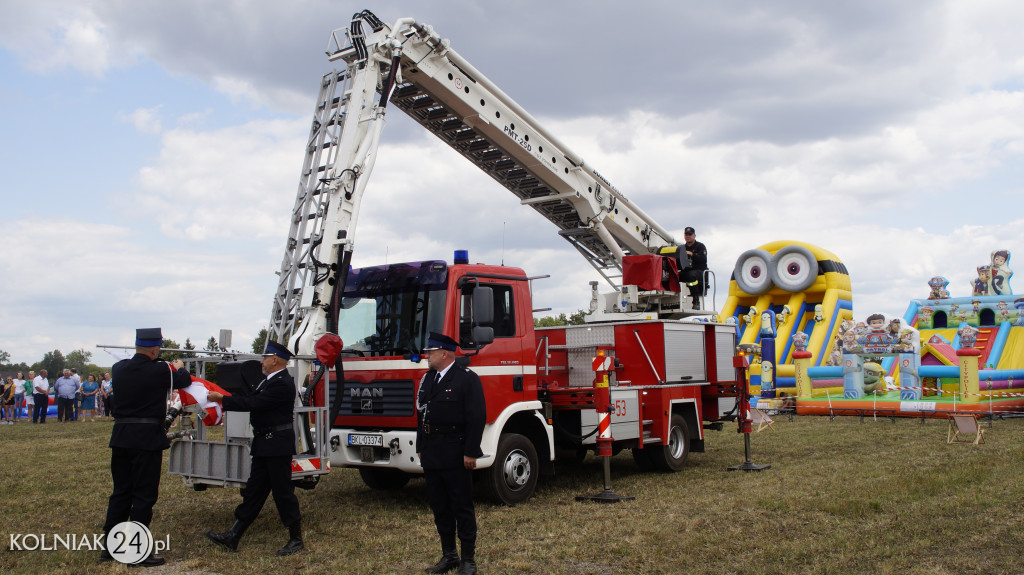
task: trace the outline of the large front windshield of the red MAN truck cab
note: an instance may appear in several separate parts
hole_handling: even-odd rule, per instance
[[[345,281],[338,335],[364,357],[419,353],[442,331],[447,264],[416,262],[353,269]]]

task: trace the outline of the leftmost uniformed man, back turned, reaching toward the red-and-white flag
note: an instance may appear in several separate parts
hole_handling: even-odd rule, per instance
[[[186,388],[191,375],[181,360],[171,364],[157,359],[164,337],[160,327],[135,330],[135,355],[114,364],[114,431],[111,432],[111,476],[114,491],[106,503],[108,533],[119,523],[137,521],[145,526],[160,494],[161,465],[170,441],[164,432],[167,397],[171,388]],[[112,561],[103,549],[99,560]],[[164,559],[150,555],[138,565],[163,565]]]

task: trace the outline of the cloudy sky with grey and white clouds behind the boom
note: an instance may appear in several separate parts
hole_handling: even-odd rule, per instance
[[[836,253],[858,315],[1024,254],[1020,2],[5,0],[0,349],[110,363],[97,344],[153,325],[248,349],[329,34],[364,8],[432,25],[658,223],[694,226],[719,306],[776,239]],[[536,307],[587,305],[554,227],[396,109],[370,186],[356,265],[463,248],[551,274]]]

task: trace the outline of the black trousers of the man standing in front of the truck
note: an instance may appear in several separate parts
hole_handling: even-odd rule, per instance
[[[427,480],[427,499],[441,540],[455,536],[458,528],[460,540],[476,541],[472,470],[425,470],[423,477]]]

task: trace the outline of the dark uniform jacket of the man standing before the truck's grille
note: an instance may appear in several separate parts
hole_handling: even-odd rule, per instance
[[[452,365],[440,382],[436,379],[431,369],[420,384],[416,451],[424,470],[462,468],[463,456],[483,456],[480,438],[487,418],[483,385],[461,365]]]

